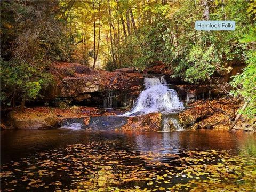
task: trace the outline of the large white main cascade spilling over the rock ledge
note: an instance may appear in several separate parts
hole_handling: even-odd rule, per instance
[[[145,78],[145,90],[143,90],[137,99],[133,109],[125,116],[142,115],[153,112],[172,113],[184,108],[183,103],[179,101],[177,92],[169,89],[162,76],[160,79]]]

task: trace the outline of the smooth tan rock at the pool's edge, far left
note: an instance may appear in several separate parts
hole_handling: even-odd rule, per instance
[[[58,126],[54,114],[11,111],[7,117],[10,126],[17,129],[53,129]]]

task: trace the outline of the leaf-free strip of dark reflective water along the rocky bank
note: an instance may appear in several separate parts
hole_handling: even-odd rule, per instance
[[[26,157],[35,151],[61,148],[74,143],[119,141],[118,150],[158,151],[179,154],[185,150],[248,150],[255,154],[256,134],[214,130],[174,132],[89,132],[69,129],[1,131],[1,162]]]

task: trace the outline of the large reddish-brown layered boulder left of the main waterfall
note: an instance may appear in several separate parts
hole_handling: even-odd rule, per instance
[[[57,84],[42,93],[43,101],[68,98],[83,105],[101,107],[106,105],[109,96],[115,100],[113,103],[117,103],[117,107],[131,107],[133,100],[143,90],[144,78],[153,76],[132,71],[128,73],[127,70],[93,70],[77,63],[55,63],[50,71]]]

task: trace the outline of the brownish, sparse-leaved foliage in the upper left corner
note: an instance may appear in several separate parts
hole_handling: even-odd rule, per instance
[[[1,51],[3,56],[9,55],[5,59],[19,57],[29,63],[70,60],[73,42],[63,23],[56,18],[56,6],[57,1],[2,2]]]

